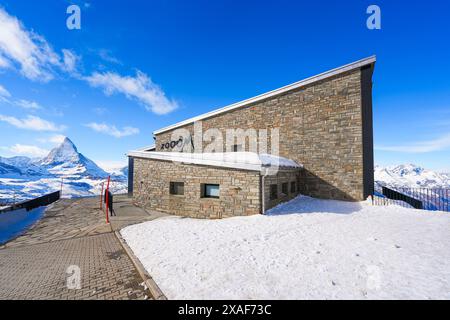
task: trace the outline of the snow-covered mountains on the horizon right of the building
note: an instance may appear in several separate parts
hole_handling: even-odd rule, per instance
[[[427,170],[414,164],[375,166],[375,185],[397,188],[450,188],[450,174]]]

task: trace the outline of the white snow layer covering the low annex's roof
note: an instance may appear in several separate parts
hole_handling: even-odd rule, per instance
[[[261,171],[264,168],[271,167],[303,167],[294,160],[254,152],[183,153],[131,151],[128,153],[128,156],[254,171]]]

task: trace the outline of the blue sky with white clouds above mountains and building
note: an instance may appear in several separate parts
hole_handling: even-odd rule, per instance
[[[72,3],[81,30],[66,27]],[[381,30],[366,28],[370,4],[381,8]],[[376,54],[376,163],[450,171],[446,1],[0,7],[0,155],[37,156],[68,136],[116,164],[152,144],[155,129]]]

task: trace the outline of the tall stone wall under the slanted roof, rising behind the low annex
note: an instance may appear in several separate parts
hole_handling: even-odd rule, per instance
[[[373,165],[363,168],[361,86],[361,70],[355,69],[205,119],[203,132],[217,128],[225,140],[226,129],[279,128],[279,155],[304,165],[302,193],[363,200],[363,175],[373,174]],[[193,124],[183,128],[193,132]],[[172,134],[167,131],[156,135],[157,151]],[[271,153],[270,141],[267,151]]]

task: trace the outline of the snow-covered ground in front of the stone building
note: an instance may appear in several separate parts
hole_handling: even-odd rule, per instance
[[[450,214],[300,196],[121,231],[169,299],[450,299]]]

